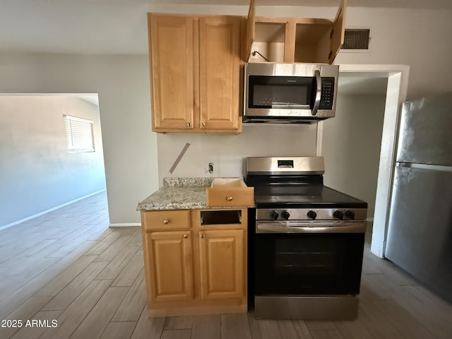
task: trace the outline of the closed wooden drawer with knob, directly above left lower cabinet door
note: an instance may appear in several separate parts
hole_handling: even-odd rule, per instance
[[[153,210],[143,212],[145,230],[184,230],[190,228],[190,210]]]

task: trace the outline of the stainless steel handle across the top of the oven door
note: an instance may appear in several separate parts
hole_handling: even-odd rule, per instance
[[[256,222],[256,233],[365,233],[366,222]]]

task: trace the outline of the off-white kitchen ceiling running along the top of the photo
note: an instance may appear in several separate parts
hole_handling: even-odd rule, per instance
[[[333,6],[340,0],[256,0],[256,6]],[[147,54],[145,13],[215,12],[231,5],[246,15],[249,0],[0,0],[0,52]],[[448,8],[451,0],[348,0],[348,6]],[[220,9],[224,11],[224,9]]]

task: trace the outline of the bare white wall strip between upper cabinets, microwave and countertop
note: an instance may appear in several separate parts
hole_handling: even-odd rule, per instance
[[[164,177],[242,177],[245,157],[316,155],[316,124],[249,124],[239,135],[159,134],[158,167]],[[190,146],[174,172],[169,173],[184,145]],[[213,173],[208,174],[208,163]]]

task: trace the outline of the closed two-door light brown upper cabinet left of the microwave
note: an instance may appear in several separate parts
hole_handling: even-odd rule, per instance
[[[239,16],[148,13],[153,131],[239,133]]]

